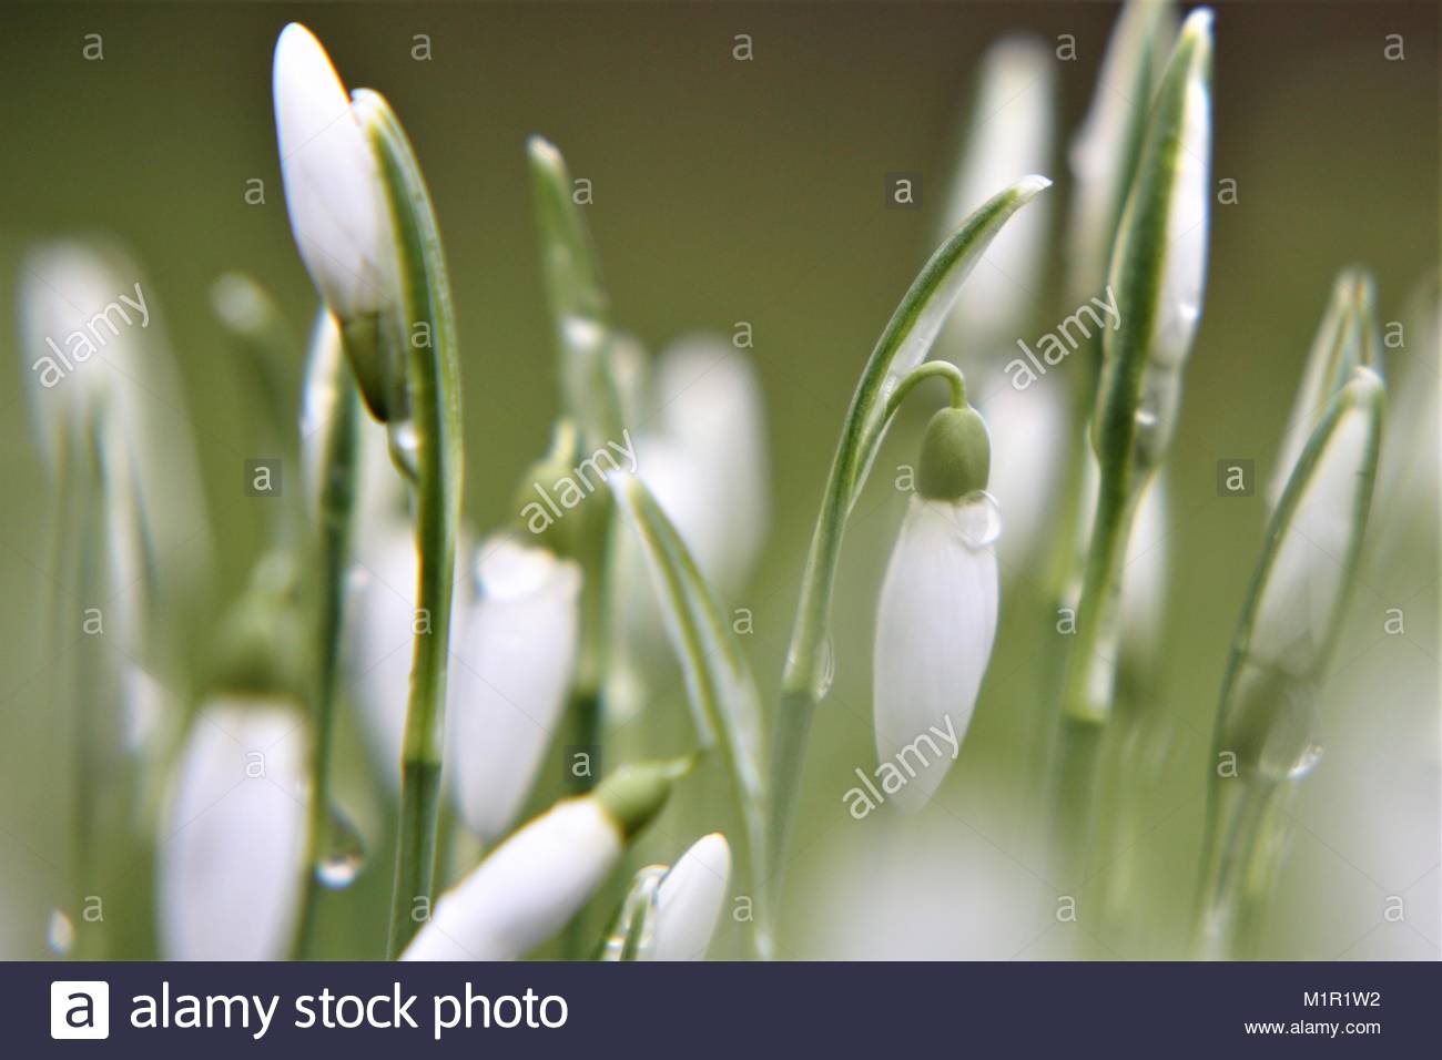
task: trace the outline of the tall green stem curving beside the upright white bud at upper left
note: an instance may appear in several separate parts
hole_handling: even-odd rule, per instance
[[[407,350],[407,387],[414,417],[417,611],[428,619],[425,632],[415,637],[401,751],[401,819],[388,945],[389,956],[395,958],[415,935],[420,920],[430,916],[435,871],[451,587],[460,524],[460,378],[450,280],[435,212],[415,153],[382,97],[356,92],[355,108],[381,160],[401,244],[402,306],[395,337]]]

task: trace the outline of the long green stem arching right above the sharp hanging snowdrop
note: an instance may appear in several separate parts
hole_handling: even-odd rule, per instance
[[[767,844],[767,862],[777,875],[786,864],[812,714],[831,679],[828,626],[841,539],[885,433],[890,389],[900,387],[926,359],[962,283],[996,232],[1047,185],[1040,177],[1012,185],[983,203],[936,249],[891,314],[851,398],[816,516],[782,673]],[[779,881],[773,880],[773,887]]]

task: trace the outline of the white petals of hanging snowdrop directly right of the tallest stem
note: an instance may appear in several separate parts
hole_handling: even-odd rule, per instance
[[[575,668],[581,568],[500,535],[482,544],[447,688],[456,803],[486,844],[505,835],[561,724]]]

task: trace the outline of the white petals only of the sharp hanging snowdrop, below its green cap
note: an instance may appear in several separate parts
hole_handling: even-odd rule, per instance
[[[996,635],[996,554],[968,544],[983,502],[911,498],[877,609],[877,754],[907,774],[887,799],[924,805],[966,736]],[[914,776],[911,776],[914,774]]]

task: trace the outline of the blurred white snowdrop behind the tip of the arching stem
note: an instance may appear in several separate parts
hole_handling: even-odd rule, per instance
[[[1050,49],[1032,37],[1008,37],[982,56],[972,124],[943,216],[946,234],[996,189],[1051,169],[1054,65]],[[1050,216],[1045,202],[1014,216],[962,287],[950,320],[970,345],[1015,337],[1040,294]]]

